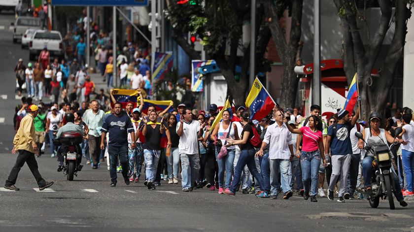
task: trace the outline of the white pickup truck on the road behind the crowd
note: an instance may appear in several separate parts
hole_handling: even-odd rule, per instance
[[[64,59],[65,53],[60,32],[37,30],[29,42],[29,60],[35,61],[45,47],[49,50],[50,59]]]

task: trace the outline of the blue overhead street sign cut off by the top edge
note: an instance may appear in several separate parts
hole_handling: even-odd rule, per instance
[[[147,6],[148,0],[52,0],[52,5]]]

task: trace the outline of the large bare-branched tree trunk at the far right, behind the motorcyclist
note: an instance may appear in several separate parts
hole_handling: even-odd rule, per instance
[[[411,17],[412,0],[378,0],[381,16],[378,29],[373,39],[368,34],[364,43],[362,27],[367,25],[365,11],[355,5],[354,0],[334,0],[338,9],[343,30],[343,60],[348,83],[355,72],[358,73],[359,94],[362,98],[362,117],[368,118],[370,112],[383,112],[387,95],[391,89],[398,63],[403,57],[407,21]],[[392,15],[392,3],[395,13]],[[409,3],[409,4],[408,4]],[[372,77],[371,72],[378,61],[385,34],[393,25],[392,37],[385,61],[379,67],[379,77]],[[367,29],[368,30],[368,29]]]

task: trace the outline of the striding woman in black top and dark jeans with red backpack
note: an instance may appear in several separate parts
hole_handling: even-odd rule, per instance
[[[253,130],[257,130],[257,129],[254,128],[254,124],[250,121],[250,113],[247,111],[244,111],[242,113],[242,124],[244,125],[243,131],[242,131],[242,139],[235,140],[233,138],[227,138],[227,144],[225,145],[227,147],[234,146],[234,145],[240,145],[241,152],[240,152],[239,161],[237,162],[237,165],[236,165],[232,187],[230,189],[226,189],[224,191],[224,194],[228,196],[236,195],[236,190],[238,188],[238,185],[240,184],[242,170],[245,165],[247,165],[247,167],[250,170],[250,173],[252,173],[254,178],[256,178],[256,180],[259,182],[260,189],[268,193],[270,189],[265,189],[265,186],[263,186],[263,183],[264,183],[263,177],[262,175],[260,175],[259,171],[257,171],[256,162],[254,160],[256,151],[254,150],[252,140],[255,134],[256,136],[259,136],[259,139],[260,139],[260,135],[258,135],[257,131],[256,133],[254,133]],[[259,194],[256,196],[258,198],[265,198],[268,195]]]

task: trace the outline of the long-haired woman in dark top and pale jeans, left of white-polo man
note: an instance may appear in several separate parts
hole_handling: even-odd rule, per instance
[[[178,183],[178,169],[180,166],[180,153],[178,152],[178,143],[180,136],[176,132],[177,119],[175,115],[170,114],[168,116],[167,129],[170,131],[171,138],[171,155],[167,156],[167,169],[169,175],[169,184]]]

